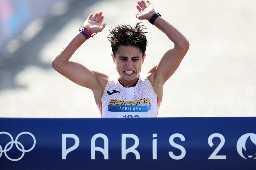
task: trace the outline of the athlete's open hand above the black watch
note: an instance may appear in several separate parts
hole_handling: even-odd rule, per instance
[[[137,9],[139,10],[138,13],[135,13],[136,17],[140,20],[150,20],[152,15],[155,12],[155,9],[150,1],[138,1],[138,5],[136,5]]]

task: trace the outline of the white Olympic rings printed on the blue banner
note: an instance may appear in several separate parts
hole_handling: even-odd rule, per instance
[[[29,152],[29,151],[33,150],[34,147],[35,147],[35,145],[36,145],[36,138],[35,138],[35,136],[34,136],[32,133],[29,133],[29,132],[21,132],[20,134],[17,135],[17,137],[16,137],[15,140],[13,140],[13,137],[12,137],[12,135],[11,135],[10,133],[7,133],[7,132],[4,132],[4,131],[3,131],[3,132],[0,132],[0,135],[1,135],[1,134],[6,134],[6,135],[8,135],[8,136],[11,138],[11,141],[8,142],[8,143],[5,145],[4,150],[3,150],[2,146],[0,145],[0,158],[1,158],[2,154],[4,153],[4,155],[6,156],[7,159],[9,159],[9,160],[11,160],[11,161],[19,161],[19,160],[21,160],[21,159],[23,158],[25,152]],[[30,149],[28,149],[28,150],[25,150],[24,146],[23,146],[20,142],[18,142],[18,138],[19,138],[21,135],[23,135],[23,134],[28,134],[28,135],[30,135],[30,136],[33,138],[33,140],[34,140],[33,146],[32,146]],[[12,149],[14,143],[15,143],[15,146],[17,147],[17,149],[22,152],[22,155],[21,155],[19,158],[17,158],[17,159],[12,159],[12,158],[10,158],[10,157],[7,155],[7,152]],[[10,147],[8,148],[9,145],[10,145]],[[21,148],[20,148],[20,147],[21,147]]]

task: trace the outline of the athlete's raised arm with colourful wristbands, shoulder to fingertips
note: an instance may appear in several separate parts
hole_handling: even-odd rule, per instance
[[[101,32],[106,26],[105,23],[102,24],[103,18],[102,12],[97,12],[94,15],[90,14],[83,26],[90,30],[92,34]],[[55,56],[52,60],[52,66],[69,80],[93,90],[97,102],[98,98],[101,97],[101,89],[104,90],[104,83],[107,82],[108,77],[103,73],[91,71],[80,63],[69,61],[75,51],[87,41],[86,36],[88,35],[78,32]],[[89,56],[86,57],[89,58]]]

